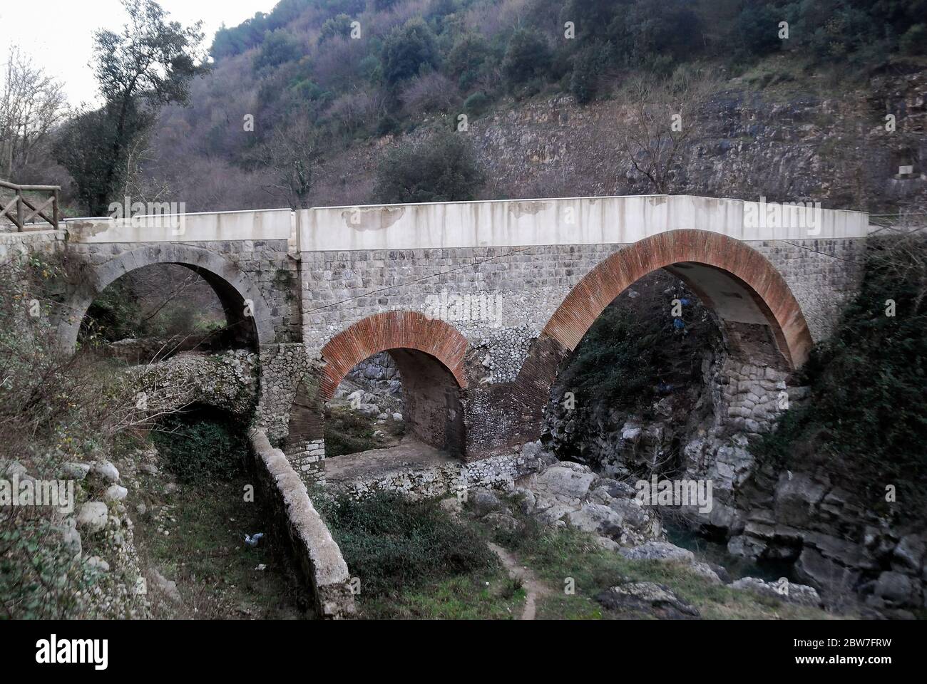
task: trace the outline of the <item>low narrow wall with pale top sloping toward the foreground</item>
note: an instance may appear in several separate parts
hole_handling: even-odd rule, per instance
[[[306,486],[284,452],[271,446],[263,430],[252,430],[250,438],[258,475],[273,493],[274,506],[286,520],[286,531],[315,594],[319,615],[328,619],[352,617],[356,607],[348,564],[322,516],[312,506]]]

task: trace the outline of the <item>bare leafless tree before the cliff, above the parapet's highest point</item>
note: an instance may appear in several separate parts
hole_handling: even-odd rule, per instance
[[[654,192],[667,194],[692,144],[699,137],[697,113],[717,92],[717,79],[679,70],[659,81],[636,75],[618,96],[626,98],[626,116],[617,122],[618,151]]]

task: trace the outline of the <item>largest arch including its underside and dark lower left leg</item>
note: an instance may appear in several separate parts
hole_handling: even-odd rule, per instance
[[[561,362],[605,307],[639,278],[661,268],[685,280],[716,313],[727,310],[731,320],[761,316],[789,368],[807,360],[812,338],[805,315],[784,278],[762,254],[724,234],[668,231],[623,247],[600,262],[553,312],[515,380],[516,396],[530,423],[540,424]]]

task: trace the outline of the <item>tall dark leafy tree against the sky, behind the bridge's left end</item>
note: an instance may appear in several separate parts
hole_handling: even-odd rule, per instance
[[[105,105],[83,112],[56,145],[58,161],[95,215],[108,213],[133,141],[150,129],[161,106],[187,104],[190,82],[206,71],[198,51],[201,22],[184,28],[167,21],[154,0],[122,3],[130,18],[122,32],[95,33],[94,70]]]

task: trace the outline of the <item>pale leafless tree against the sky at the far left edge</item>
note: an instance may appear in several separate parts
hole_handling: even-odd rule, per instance
[[[12,178],[24,169],[65,114],[61,83],[11,46],[0,99],[0,176]]]

